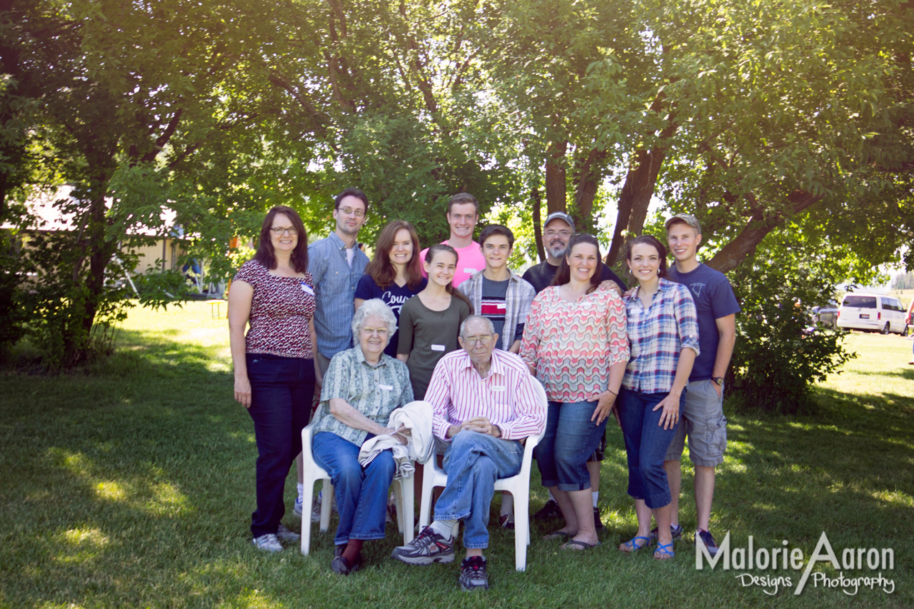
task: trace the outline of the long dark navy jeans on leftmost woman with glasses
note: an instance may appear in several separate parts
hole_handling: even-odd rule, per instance
[[[311,417],[314,360],[248,353],[250,418],[257,438],[257,511],[250,516],[254,537],[275,533],[285,506],[282,490],[302,430]],[[307,518],[307,516],[305,517]]]

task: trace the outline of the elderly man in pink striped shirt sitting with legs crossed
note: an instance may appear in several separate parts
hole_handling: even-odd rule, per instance
[[[432,431],[444,445],[448,484],[435,503],[435,520],[393,557],[427,565],[454,560],[453,531],[464,521],[460,584],[488,588],[483,550],[489,545],[489,504],[495,480],[517,475],[527,436],[546,425],[524,361],[495,349],[498,335],[481,315],[467,317],[458,339],[462,349],[441,358],[425,400],[432,406]]]

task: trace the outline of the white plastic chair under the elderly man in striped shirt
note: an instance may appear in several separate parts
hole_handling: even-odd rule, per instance
[[[537,379],[533,379],[534,390],[537,392],[537,399],[543,404],[543,411],[548,408],[546,399],[546,390],[539,384]],[[517,571],[526,571],[526,547],[530,545],[530,466],[533,460],[533,449],[537,447],[543,435],[546,434],[546,428],[538,435],[527,437],[524,444],[524,461],[520,467],[520,473],[510,478],[501,478],[495,480],[496,491],[507,491],[511,493],[515,500],[515,569]],[[422,502],[419,511],[419,528],[420,530],[429,526],[431,512],[431,489],[433,486],[447,486],[448,475],[438,465],[435,456],[432,455],[429,462],[425,464],[425,472],[422,475]]]

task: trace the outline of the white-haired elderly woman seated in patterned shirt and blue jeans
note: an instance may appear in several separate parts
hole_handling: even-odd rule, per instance
[[[406,364],[384,353],[396,331],[397,319],[380,299],[359,307],[352,320],[356,347],[331,360],[315,414],[314,462],[332,478],[340,515],[331,567],[343,575],[361,567],[363,541],[384,539],[396,465],[384,451],[363,468],[358,451],[369,438],[396,433],[387,426],[390,412],[412,401]]]

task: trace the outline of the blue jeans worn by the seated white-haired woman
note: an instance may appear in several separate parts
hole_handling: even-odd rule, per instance
[[[366,440],[374,436],[368,434]],[[314,434],[314,462],[326,470],[334,484],[340,524],[334,543],[348,540],[383,540],[388,515],[388,488],[397,465],[390,451],[381,451],[366,468],[358,463],[361,446],[335,433]],[[303,518],[309,518],[307,507]]]

